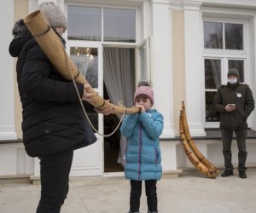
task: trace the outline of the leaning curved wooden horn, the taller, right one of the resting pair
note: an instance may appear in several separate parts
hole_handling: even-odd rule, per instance
[[[184,101],[182,101],[182,113],[184,134],[186,140],[189,143],[189,147],[191,147],[191,150],[193,151],[193,153],[195,153],[195,156],[201,161],[201,163],[205,164],[208,168],[214,170],[214,172],[218,175],[218,168],[215,165],[213,165],[207,158],[205,158],[205,156],[199,151],[199,149],[195,145],[195,141],[192,139],[190,135]]]

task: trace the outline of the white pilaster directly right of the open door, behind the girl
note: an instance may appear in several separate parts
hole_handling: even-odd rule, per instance
[[[169,1],[153,0],[154,107],[163,114],[165,126],[161,138],[174,137],[172,89],[172,11]]]

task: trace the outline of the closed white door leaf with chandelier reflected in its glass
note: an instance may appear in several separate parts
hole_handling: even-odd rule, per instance
[[[91,87],[102,95],[101,45],[96,43],[69,42],[67,51]],[[93,107],[86,107],[85,112],[88,115],[90,124],[93,126],[97,141],[89,147],[80,148],[74,152],[70,176],[102,176],[103,137],[98,132],[102,133],[103,131],[103,116],[102,114],[96,113]],[[84,115],[84,119],[86,119],[86,115]]]

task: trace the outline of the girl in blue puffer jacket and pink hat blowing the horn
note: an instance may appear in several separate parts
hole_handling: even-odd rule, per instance
[[[159,137],[163,116],[155,109],[154,92],[150,86],[138,87],[134,101],[140,112],[127,115],[120,131],[127,138],[125,178],[130,179],[130,211],[139,212],[142,181],[145,181],[148,213],[157,213],[156,182],[162,175]]]

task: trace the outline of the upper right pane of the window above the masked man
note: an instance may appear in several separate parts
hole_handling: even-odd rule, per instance
[[[243,49],[241,24],[225,23],[225,49]]]

